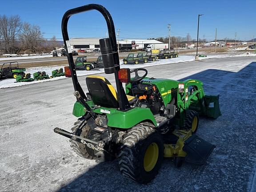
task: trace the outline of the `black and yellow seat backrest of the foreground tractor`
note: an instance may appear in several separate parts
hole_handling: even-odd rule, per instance
[[[87,76],[86,84],[94,104],[106,108],[119,108],[116,90],[103,76]]]

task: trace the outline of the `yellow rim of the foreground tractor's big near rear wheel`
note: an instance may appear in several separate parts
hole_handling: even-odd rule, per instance
[[[152,143],[148,146],[144,155],[144,169],[146,172],[150,172],[155,166],[158,159],[158,145]]]

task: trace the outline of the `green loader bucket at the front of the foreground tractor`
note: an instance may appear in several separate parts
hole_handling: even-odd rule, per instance
[[[219,104],[219,96],[208,96],[204,97],[205,106],[206,106],[206,116],[217,119],[218,116],[221,116],[220,113],[220,104]]]

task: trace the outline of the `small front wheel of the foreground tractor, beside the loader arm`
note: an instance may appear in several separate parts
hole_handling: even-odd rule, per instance
[[[193,110],[188,110],[185,117],[184,128],[189,130],[191,129],[192,134],[196,133],[199,124],[199,115],[198,112]]]

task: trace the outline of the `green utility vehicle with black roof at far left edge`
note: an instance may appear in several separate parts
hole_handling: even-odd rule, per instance
[[[24,76],[26,68],[19,68],[19,63],[17,61],[4,63],[0,69],[0,79],[2,78],[14,78],[18,75]]]

